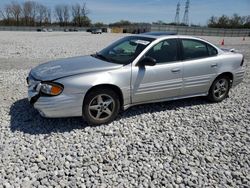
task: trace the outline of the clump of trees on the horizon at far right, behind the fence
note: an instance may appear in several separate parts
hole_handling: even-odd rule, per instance
[[[231,17],[226,15],[220,17],[212,16],[208,20],[208,27],[228,29],[250,28],[250,15],[239,16],[238,14],[234,14]]]

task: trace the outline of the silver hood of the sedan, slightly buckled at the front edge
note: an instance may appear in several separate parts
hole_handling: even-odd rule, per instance
[[[49,81],[76,74],[116,69],[122,66],[92,56],[80,56],[41,64],[31,70],[31,75],[37,80]]]

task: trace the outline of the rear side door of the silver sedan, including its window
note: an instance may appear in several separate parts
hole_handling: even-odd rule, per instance
[[[196,39],[180,39],[183,58],[183,96],[208,92],[217,75],[217,50]]]

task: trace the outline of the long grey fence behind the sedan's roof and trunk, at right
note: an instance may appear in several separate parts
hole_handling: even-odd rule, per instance
[[[172,25],[152,25],[151,31],[177,32],[180,35],[196,35],[196,36],[226,36],[226,37],[250,36],[250,29],[220,29],[220,28],[185,27],[185,26],[172,26]]]

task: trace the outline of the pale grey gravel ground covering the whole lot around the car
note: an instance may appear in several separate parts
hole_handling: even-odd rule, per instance
[[[30,67],[95,52],[119,37],[0,32],[0,187],[250,187],[249,67],[222,103],[142,105],[105,126],[44,119],[31,108]],[[225,43],[250,59],[249,38]]]

